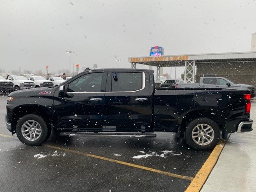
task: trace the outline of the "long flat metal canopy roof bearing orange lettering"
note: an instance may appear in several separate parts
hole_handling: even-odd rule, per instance
[[[129,57],[128,62],[150,66],[184,66],[185,60],[195,60],[196,63],[211,62],[248,62],[256,61],[256,52],[230,52],[210,54],[163,55],[148,57]]]

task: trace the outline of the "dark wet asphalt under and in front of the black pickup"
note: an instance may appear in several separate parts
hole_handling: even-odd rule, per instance
[[[49,146],[192,178],[210,155],[177,143],[168,132],[156,132],[156,138],[72,137],[54,142],[50,137],[42,146],[29,147],[6,129],[6,100],[0,95],[0,192],[183,192],[191,182]]]

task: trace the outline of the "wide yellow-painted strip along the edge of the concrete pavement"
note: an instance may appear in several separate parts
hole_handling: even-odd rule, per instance
[[[219,141],[218,145],[216,145],[206,162],[204,162],[203,166],[200,168],[199,172],[196,174],[185,192],[199,192],[201,190],[214,165],[216,164],[225,144],[226,141]]]

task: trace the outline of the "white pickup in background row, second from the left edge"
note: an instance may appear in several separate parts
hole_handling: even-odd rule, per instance
[[[24,76],[9,75],[8,80],[12,81],[15,90],[35,88],[36,85],[33,81],[27,80]]]

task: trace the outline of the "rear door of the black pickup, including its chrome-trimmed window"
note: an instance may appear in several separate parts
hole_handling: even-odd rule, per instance
[[[151,130],[149,79],[146,71],[108,70],[104,106],[106,131]]]

